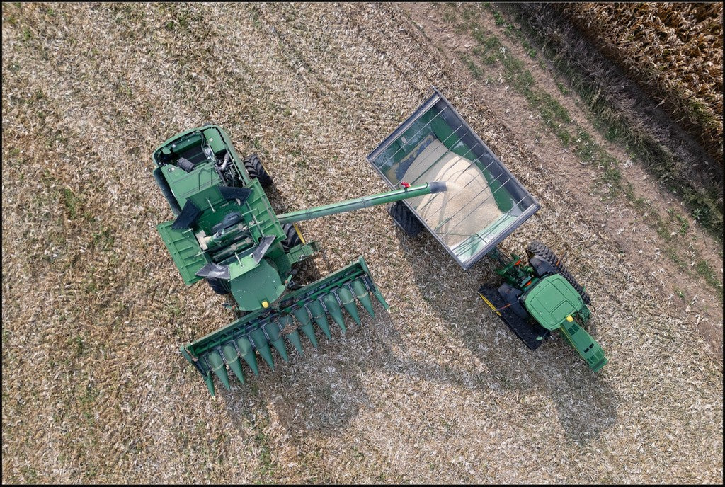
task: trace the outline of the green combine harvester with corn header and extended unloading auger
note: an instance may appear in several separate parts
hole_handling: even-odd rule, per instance
[[[343,311],[360,324],[359,302],[375,316],[374,296],[388,309],[363,257],[307,286],[294,281],[296,265],[316,251],[297,222],[376,204],[446,191],[446,184],[402,184],[373,196],[276,215],[265,188],[270,175],[252,155],[241,159],[229,136],[207,124],[179,133],[153,153],[154,178],[175,220],[157,226],[186,285],[207,280],[217,294],[231,296],[236,320],[181,346],[215,396],[212,375],[230,388],[231,370],[244,382],[242,363],[259,374],[257,356],[274,369],[272,350],[287,361],[285,344],[300,354],[299,332],[318,346],[312,323],[331,337],[328,315],[344,332]]]

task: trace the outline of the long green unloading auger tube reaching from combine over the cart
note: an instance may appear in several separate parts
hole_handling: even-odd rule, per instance
[[[415,196],[425,196],[431,193],[440,193],[446,191],[446,183],[434,181],[432,183],[420,184],[418,186],[410,186],[409,188],[396,189],[394,191],[386,191],[384,193],[373,194],[372,196],[363,196],[362,198],[348,199],[339,203],[326,204],[323,207],[300,209],[297,212],[284,213],[277,215],[281,225],[286,223],[301,222],[302,220],[313,220],[319,217],[326,217],[336,213],[351,212],[355,209],[373,207],[377,204],[393,203],[407,198],[415,198]]]

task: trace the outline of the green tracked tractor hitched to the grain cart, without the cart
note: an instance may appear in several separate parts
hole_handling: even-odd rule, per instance
[[[543,243],[533,241],[526,247],[528,265],[523,257],[505,258],[492,252],[502,267],[496,272],[504,283],[496,287],[484,284],[479,296],[501,317],[531,350],[536,350],[555,330],[579,352],[594,372],[608,359],[602,347],[587,330],[592,300],[561,260]]]

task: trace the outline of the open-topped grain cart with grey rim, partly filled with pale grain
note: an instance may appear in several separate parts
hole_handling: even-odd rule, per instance
[[[391,188],[447,183],[445,193],[401,201],[390,211],[399,225],[415,233],[416,221],[406,215],[407,208],[420,229],[427,228],[464,269],[539,209],[534,196],[436,88],[368,161]]]

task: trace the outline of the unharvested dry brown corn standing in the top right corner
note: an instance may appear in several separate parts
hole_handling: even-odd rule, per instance
[[[570,3],[563,12],[723,159],[723,6]]]

